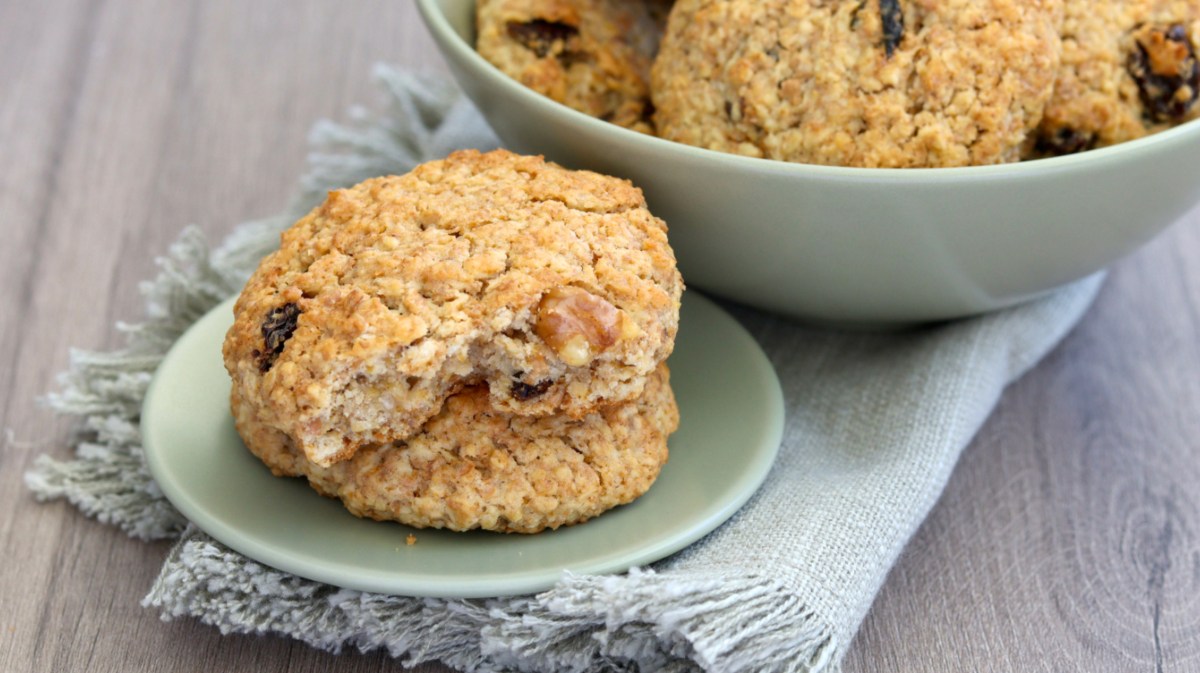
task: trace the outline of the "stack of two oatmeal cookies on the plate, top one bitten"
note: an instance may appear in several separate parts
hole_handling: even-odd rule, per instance
[[[223,347],[246,446],[353,513],[535,533],[644,493],[683,283],[626,181],[456,152],[331,192]]]

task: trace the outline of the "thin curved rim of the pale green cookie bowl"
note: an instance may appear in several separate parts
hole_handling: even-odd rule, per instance
[[[744,169],[757,174],[770,173],[782,178],[804,179],[836,179],[850,178],[869,180],[872,182],[919,182],[924,184],[931,179],[965,181],[988,179],[1028,179],[1043,176],[1048,173],[1108,166],[1122,163],[1128,158],[1152,154],[1158,149],[1178,142],[1182,137],[1200,136],[1200,119],[1186,121],[1171,128],[1144,136],[1134,140],[1127,140],[1116,145],[1097,148],[1073,155],[1046,157],[1012,163],[996,163],[986,166],[961,166],[961,167],[937,167],[937,168],[864,168],[847,166],[824,166],[814,163],[787,162],[762,157],[751,157],[698,148],[668,140],[658,136],[640,133],[616,124],[611,124],[586,113],[570,108],[552,98],[522,85],[512,79],[498,67],[482,58],[474,47],[458,35],[458,31],[450,25],[450,20],[443,12],[443,0],[416,0],[418,11],[425,20],[426,28],[433,34],[436,41],[443,47],[454,50],[454,56],[474,70],[478,74],[496,80],[509,95],[517,97],[522,102],[539,107],[547,114],[564,124],[582,125],[583,128],[593,133],[612,133],[614,140],[624,143],[642,144],[648,149],[674,155],[676,158],[688,162],[712,162],[714,160],[726,162],[734,169]]]

